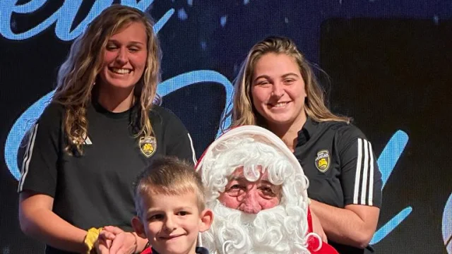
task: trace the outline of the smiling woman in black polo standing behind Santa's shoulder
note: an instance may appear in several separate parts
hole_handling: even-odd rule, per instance
[[[316,233],[340,253],[371,250],[381,205],[371,143],[348,117],[328,110],[309,61],[292,40],[268,37],[251,48],[225,115],[232,117],[229,127],[262,126],[294,152],[309,179]]]

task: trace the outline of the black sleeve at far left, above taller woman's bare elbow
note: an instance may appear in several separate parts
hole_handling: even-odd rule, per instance
[[[60,150],[61,106],[49,104],[25,135],[19,149],[20,180],[18,192],[33,191],[54,197]]]

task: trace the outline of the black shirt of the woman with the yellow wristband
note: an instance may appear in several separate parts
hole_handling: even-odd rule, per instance
[[[70,224],[90,229],[106,225],[133,231],[133,181],[156,155],[173,155],[195,163],[188,131],[171,111],[149,112],[155,137],[134,137],[138,107],[112,113],[100,104],[87,109],[88,138],[83,155],[65,152],[65,109],[49,104],[30,131],[18,191],[54,198],[53,212]],[[135,125],[136,126],[136,125]],[[47,246],[46,253],[66,253]]]

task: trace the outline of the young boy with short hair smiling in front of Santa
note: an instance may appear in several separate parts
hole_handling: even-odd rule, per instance
[[[138,176],[135,188],[136,234],[148,238],[153,254],[206,254],[196,247],[198,233],[210,228],[201,177],[175,157],[160,157]]]

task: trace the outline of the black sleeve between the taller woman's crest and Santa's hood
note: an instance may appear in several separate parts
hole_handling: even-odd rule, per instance
[[[165,109],[167,115],[167,124],[165,125],[165,140],[167,140],[167,155],[183,159],[191,164],[196,164],[196,154],[193,146],[193,140],[189,131],[186,130],[184,123],[171,111]]]

